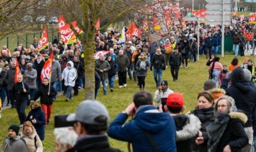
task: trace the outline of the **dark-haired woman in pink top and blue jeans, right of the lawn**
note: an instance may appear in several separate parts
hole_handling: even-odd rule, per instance
[[[215,57],[215,59],[213,60],[213,63],[210,64],[208,72],[209,74],[212,74],[212,78],[215,81],[215,84],[217,87],[219,84],[218,76],[222,70],[223,70],[223,66],[221,63],[219,63],[219,57]]]

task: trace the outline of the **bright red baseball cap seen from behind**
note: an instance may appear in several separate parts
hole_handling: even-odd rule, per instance
[[[169,94],[166,105],[171,107],[176,107],[176,108],[182,107],[184,105],[183,95],[178,92]]]

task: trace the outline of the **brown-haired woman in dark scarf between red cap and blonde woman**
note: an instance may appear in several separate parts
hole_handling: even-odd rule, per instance
[[[200,92],[197,96],[197,107],[191,114],[194,114],[201,121],[201,129],[199,131],[198,137],[202,137],[202,139],[207,140],[207,130],[206,127],[214,122],[214,97],[210,92],[204,91]],[[194,151],[206,152],[207,151],[207,143],[202,143],[201,145],[194,145]]]

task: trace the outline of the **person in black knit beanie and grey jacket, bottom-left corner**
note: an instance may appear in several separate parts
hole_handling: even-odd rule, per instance
[[[2,152],[10,151],[24,151],[30,152],[26,146],[26,142],[19,136],[20,127],[16,125],[10,125],[8,131],[9,135],[4,139],[2,143]]]

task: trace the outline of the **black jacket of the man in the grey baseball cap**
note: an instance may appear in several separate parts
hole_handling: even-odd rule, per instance
[[[89,137],[87,139],[78,139],[76,145],[68,152],[118,152],[120,150],[111,148],[107,136]]]

